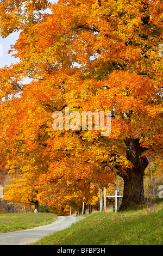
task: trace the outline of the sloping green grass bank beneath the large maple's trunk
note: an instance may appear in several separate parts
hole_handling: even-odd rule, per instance
[[[95,213],[32,245],[162,245],[163,200],[155,210]]]

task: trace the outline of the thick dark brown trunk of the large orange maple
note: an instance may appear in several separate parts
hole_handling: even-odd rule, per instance
[[[122,174],[124,190],[120,210],[125,210],[131,205],[139,205],[144,201],[143,176],[148,160],[142,157],[143,151],[139,139],[126,138],[127,159],[133,164],[133,168],[127,169],[127,174]]]

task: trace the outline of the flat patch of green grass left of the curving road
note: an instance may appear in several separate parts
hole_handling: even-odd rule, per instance
[[[0,233],[35,228],[57,220],[58,216],[44,212],[0,214]]]

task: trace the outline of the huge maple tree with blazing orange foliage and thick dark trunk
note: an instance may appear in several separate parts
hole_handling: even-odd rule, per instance
[[[30,163],[49,205],[116,174],[120,209],[141,203],[148,158],[162,156],[161,1],[3,0],[0,23],[1,36],[20,31],[20,61],[0,74],[1,154]],[[67,106],[111,111],[111,134],[54,131],[52,113]]]

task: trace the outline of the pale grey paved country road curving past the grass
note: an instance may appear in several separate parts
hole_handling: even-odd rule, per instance
[[[72,223],[82,220],[82,217],[59,216],[58,220],[41,227],[0,234],[0,245],[27,245],[39,240],[41,237],[56,231],[66,229]]]

